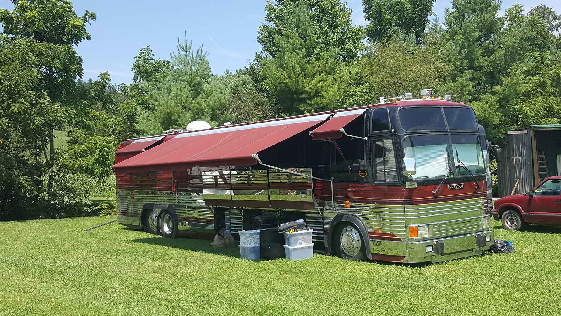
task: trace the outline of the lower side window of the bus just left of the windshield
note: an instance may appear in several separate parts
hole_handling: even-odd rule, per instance
[[[372,141],[374,183],[399,182],[397,175],[396,152],[391,138]]]

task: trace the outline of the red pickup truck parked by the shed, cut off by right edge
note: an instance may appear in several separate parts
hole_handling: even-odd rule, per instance
[[[545,178],[528,193],[499,198],[491,215],[508,231],[529,223],[561,225],[561,176]]]

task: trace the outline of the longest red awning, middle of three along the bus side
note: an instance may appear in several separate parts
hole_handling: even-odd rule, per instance
[[[179,134],[113,166],[119,173],[180,170],[193,166],[249,166],[252,155],[321,123],[330,114],[232,125]],[[123,148],[124,149],[124,148]]]

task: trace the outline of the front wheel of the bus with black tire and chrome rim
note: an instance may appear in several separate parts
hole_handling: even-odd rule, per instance
[[[333,246],[341,259],[366,260],[366,243],[360,230],[351,222],[337,224],[333,231]],[[360,245],[360,248],[357,248]]]

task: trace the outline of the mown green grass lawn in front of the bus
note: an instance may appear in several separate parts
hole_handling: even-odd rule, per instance
[[[0,223],[0,315],[559,315],[561,228],[495,237],[514,254],[440,264],[335,256],[251,262],[116,216]]]

